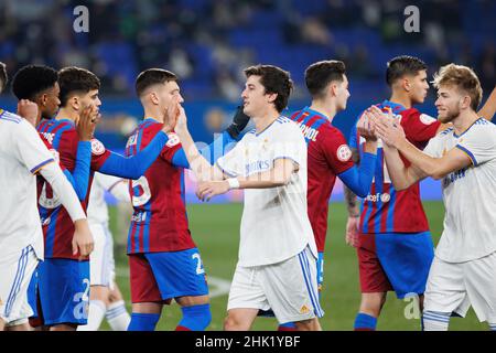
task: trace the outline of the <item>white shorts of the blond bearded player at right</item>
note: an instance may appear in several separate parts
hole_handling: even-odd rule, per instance
[[[460,264],[434,257],[424,310],[465,317],[471,306],[479,321],[496,322],[496,253]]]

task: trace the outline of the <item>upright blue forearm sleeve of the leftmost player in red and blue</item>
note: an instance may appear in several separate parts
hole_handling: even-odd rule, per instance
[[[68,170],[64,173],[76,191],[77,197],[83,201],[88,192],[89,164],[91,162],[91,142],[79,141],[77,143],[76,167],[71,174]]]

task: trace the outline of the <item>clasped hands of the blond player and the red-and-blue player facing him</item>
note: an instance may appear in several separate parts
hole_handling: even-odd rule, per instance
[[[356,125],[358,133],[367,141],[381,139],[388,147],[397,147],[405,139],[405,131],[400,121],[389,109],[385,114],[376,106],[367,108]]]

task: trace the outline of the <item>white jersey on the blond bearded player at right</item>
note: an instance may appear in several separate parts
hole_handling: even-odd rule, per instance
[[[442,180],[446,212],[435,255],[463,263],[496,252],[496,126],[479,118],[460,136],[449,128],[424,152],[441,158],[452,148],[464,151],[472,165]]]

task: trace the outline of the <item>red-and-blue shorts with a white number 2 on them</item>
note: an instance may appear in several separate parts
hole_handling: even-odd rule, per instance
[[[130,254],[132,302],[164,302],[172,298],[208,295],[197,248],[180,252]]]

